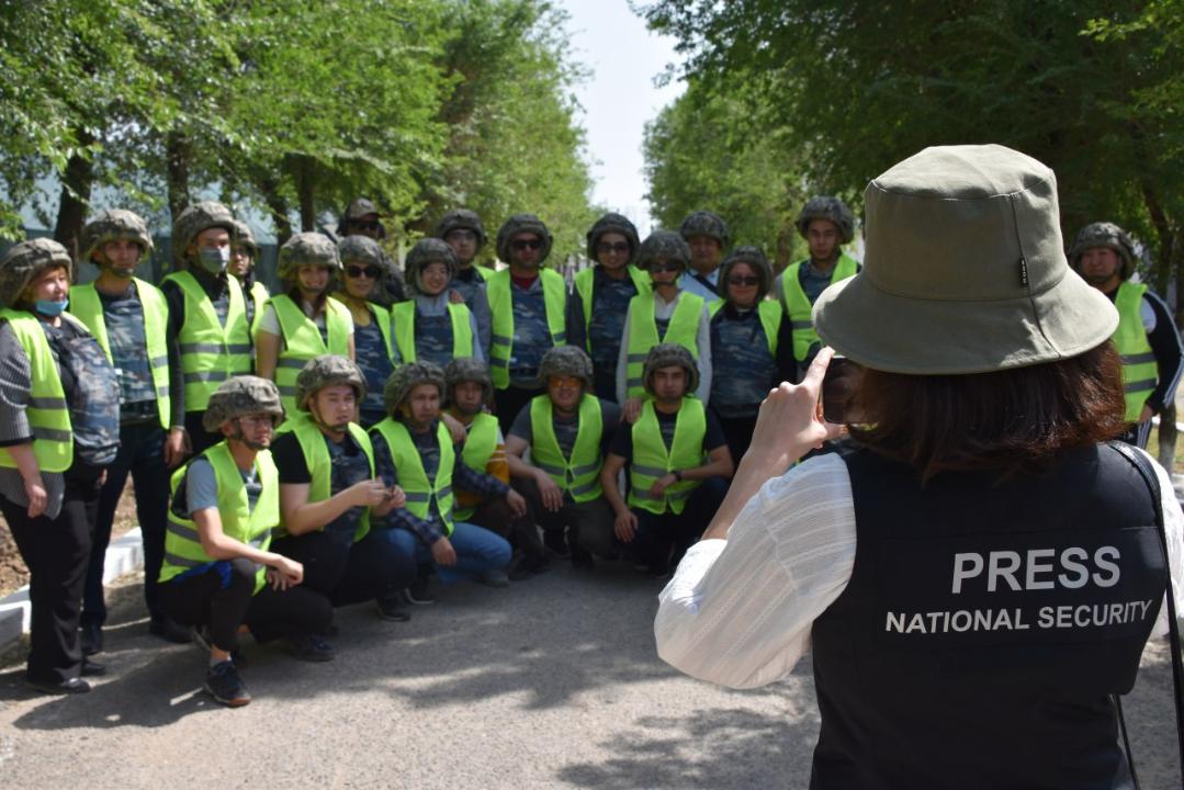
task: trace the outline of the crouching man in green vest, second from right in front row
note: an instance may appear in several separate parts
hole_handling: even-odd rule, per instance
[[[519,412],[506,441],[510,475],[548,535],[547,544],[564,546],[566,528],[572,565],[591,569],[593,555],[616,555],[600,467],[620,423],[620,406],[592,394],[592,360],[577,346],[548,351],[539,374],[547,392]]]

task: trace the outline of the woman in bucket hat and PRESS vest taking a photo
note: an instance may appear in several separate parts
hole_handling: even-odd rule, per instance
[[[999,146],[928,148],[866,192],[867,256],[815,307],[863,367],[845,450],[831,352],[761,407],[727,500],[663,591],[663,659],[747,688],[809,648],[811,788],[1126,788],[1131,689],[1184,515],[1105,442],[1118,316],[1066,263],[1056,181]],[[1122,445],[1125,449],[1126,445]],[[1150,469],[1150,460],[1147,461]],[[1178,596],[1177,596],[1178,598]]]

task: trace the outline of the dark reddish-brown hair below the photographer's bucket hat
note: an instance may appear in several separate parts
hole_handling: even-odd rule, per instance
[[[1106,341],[1077,357],[969,375],[906,375],[866,368],[855,394],[856,442],[915,467],[1036,471],[1061,452],[1125,428],[1121,362]]]

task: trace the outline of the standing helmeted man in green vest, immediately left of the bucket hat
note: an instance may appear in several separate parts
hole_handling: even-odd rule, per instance
[[[790,316],[797,380],[800,380],[822,348],[810,317],[815,301],[831,283],[854,277],[860,266],[842,249],[855,238],[855,216],[845,203],[831,195],[815,195],[803,206],[796,224],[810,248],[810,257],[778,275],[773,295],[781,300]]]

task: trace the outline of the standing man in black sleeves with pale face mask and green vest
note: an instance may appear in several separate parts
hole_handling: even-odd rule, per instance
[[[160,285],[168,303],[169,354],[180,355],[185,383],[169,397],[184,407],[193,452],[221,441],[202,428],[210,396],[232,375],[251,372],[246,300],[238,280],[227,272],[234,221],[230,210],[213,200],[187,206],[173,223],[178,270]]]

